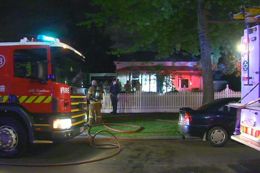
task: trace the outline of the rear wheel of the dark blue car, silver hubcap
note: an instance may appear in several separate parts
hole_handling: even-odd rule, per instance
[[[213,127],[208,131],[208,141],[214,147],[222,147],[228,140],[227,130],[223,127]]]

